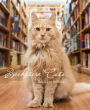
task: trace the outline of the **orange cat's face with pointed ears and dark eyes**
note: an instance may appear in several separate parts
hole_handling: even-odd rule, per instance
[[[58,31],[55,25],[55,15],[50,19],[38,19],[32,15],[31,37],[38,43],[48,43],[58,37]]]

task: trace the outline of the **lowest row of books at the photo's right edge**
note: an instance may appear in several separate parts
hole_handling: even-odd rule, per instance
[[[83,53],[83,67],[90,68],[90,53]]]

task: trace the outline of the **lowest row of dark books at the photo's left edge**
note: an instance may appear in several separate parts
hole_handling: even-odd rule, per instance
[[[0,51],[0,68],[7,66],[7,57],[4,52]]]

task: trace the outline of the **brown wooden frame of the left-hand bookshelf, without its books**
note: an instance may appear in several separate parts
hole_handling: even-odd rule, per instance
[[[0,24],[0,30],[2,32],[6,33],[7,37],[8,37],[8,39],[7,39],[7,47],[0,46],[0,52],[1,51],[5,52],[6,53],[6,57],[7,57],[7,66],[6,67],[0,67],[0,74],[6,72],[9,68],[18,69],[18,68],[23,66],[22,57],[21,56],[22,56],[22,54],[25,54],[25,52],[22,51],[22,46],[24,46],[27,49],[27,44],[26,44],[26,42],[23,41],[22,35],[24,34],[24,36],[27,39],[28,15],[27,15],[27,13],[25,12],[25,10],[23,8],[24,5],[27,8],[26,3],[24,3],[24,5],[22,6],[20,0],[17,0],[17,2],[19,3],[19,10],[17,9],[17,7],[14,4],[13,0],[8,0],[7,7],[2,2],[0,2],[0,9],[7,16],[7,26],[4,26],[4,25]],[[11,4],[12,4],[13,9],[16,12],[17,16],[19,16],[19,27],[18,27],[19,31],[18,31],[17,35],[14,35],[11,32],[11,17],[12,17],[12,15],[11,15],[11,10],[12,10],[11,9]],[[22,16],[22,13],[24,15],[24,18]],[[23,30],[22,24],[25,25],[25,31]],[[10,42],[11,36],[12,36],[13,40],[15,40],[15,41],[20,43],[20,51],[16,51],[16,50],[11,49],[11,47],[10,47],[10,45],[11,45],[11,42]],[[11,56],[11,53],[13,53],[13,52],[17,54],[17,59],[18,59],[17,65],[11,65],[11,63],[10,63],[10,59],[11,59],[10,56]]]

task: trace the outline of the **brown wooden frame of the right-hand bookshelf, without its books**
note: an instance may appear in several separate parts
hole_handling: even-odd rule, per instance
[[[71,0],[71,2],[75,2],[76,0]],[[68,30],[66,30],[64,32],[64,36],[66,35],[66,33],[69,33],[70,36],[71,36],[71,29],[73,28],[74,24],[77,23],[78,20],[80,20],[80,31],[77,32],[77,35],[82,35],[82,33],[86,33],[86,32],[90,32],[90,24],[85,26],[83,29],[82,29],[82,15],[85,13],[85,11],[90,7],[90,0],[86,3],[85,7],[82,9],[82,0],[80,0],[80,13],[78,14],[77,18],[74,20],[73,24],[70,25],[70,27],[68,28]],[[73,8],[72,12],[70,13],[67,21],[66,21],[66,25],[68,24],[69,20],[71,19],[71,17],[73,16],[74,14],[74,10],[76,8],[77,4],[75,5],[75,7]],[[72,38],[72,36],[71,36]],[[64,37],[65,39],[65,37]],[[76,70],[80,70],[81,72],[84,72],[84,73],[89,73],[90,74],[90,69],[89,68],[84,68],[83,67],[83,52],[90,52],[90,48],[82,48],[82,40],[81,40],[81,37],[80,37],[80,50],[78,51],[73,51],[73,52],[70,52],[68,53],[68,56],[71,57],[71,59],[73,58],[72,56],[77,56],[77,55],[80,55],[80,68],[78,69],[77,66],[74,66],[73,68],[77,68]]]

